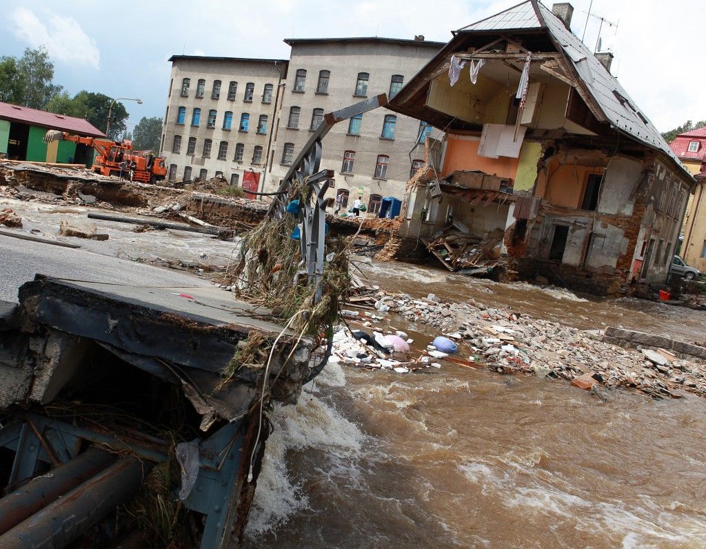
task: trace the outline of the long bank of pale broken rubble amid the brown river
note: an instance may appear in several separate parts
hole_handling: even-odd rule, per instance
[[[587,388],[632,387],[655,398],[678,398],[680,389],[706,396],[706,365],[672,355],[657,360],[641,350],[601,341],[599,331],[581,331],[558,322],[486,307],[471,300],[451,304],[378,292],[393,312],[408,321],[458,333],[469,362],[504,373],[576,379],[592,377]],[[652,358],[650,358],[652,357]],[[664,363],[666,361],[666,363]],[[592,389],[594,392],[599,389]]]

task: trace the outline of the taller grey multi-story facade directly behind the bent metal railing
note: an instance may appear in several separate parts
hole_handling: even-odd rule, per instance
[[[380,93],[393,98],[443,46],[423,37],[285,42],[292,53],[276,145],[269,159],[269,190],[277,187],[325,112]],[[371,213],[383,197],[401,199],[412,167],[424,162],[424,138],[431,130],[417,119],[384,108],[336,124],[323,139],[321,167],[336,171],[335,189],[329,196],[341,193],[344,203],[361,196]]]

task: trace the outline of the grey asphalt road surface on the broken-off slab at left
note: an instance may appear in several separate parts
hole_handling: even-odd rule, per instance
[[[0,300],[17,301],[20,285],[36,273],[140,286],[208,286],[197,276],[52,244],[28,242],[0,235]]]

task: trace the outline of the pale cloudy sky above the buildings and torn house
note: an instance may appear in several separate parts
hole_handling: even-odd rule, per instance
[[[497,13],[519,0],[242,0],[97,4],[92,0],[0,0],[0,55],[45,45],[55,80],[70,93],[81,89],[126,103],[135,124],[162,116],[172,54],[289,57],[288,37],[382,36],[446,42],[450,30]],[[551,0],[545,0],[551,6]],[[573,0],[573,32],[594,47],[600,21],[591,0]],[[125,6],[121,8],[120,6]],[[247,6],[244,8],[243,6]],[[266,7],[265,7],[266,6]],[[593,0],[604,23],[603,48],[615,54],[613,73],[661,131],[688,119],[706,119],[700,104],[706,73],[700,47],[703,0]],[[129,127],[129,126],[128,126]]]

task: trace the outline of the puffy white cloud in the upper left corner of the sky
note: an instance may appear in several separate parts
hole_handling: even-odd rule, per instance
[[[15,35],[31,47],[45,46],[54,61],[99,68],[100,52],[76,19],[49,13],[48,25],[28,8],[16,8],[8,20]]]

